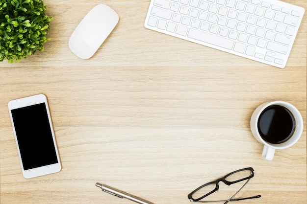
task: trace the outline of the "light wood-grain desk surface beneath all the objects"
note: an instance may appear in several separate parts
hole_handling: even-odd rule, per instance
[[[283,1],[307,8],[306,0]],[[190,204],[196,187],[250,166],[255,177],[240,196],[262,197],[238,204],[306,204],[307,14],[280,69],[144,28],[149,2],[45,0],[54,17],[45,51],[0,63],[1,204],[133,204],[96,182],[154,204]],[[120,22],[81,60],[68,39],[99,3]],[[26,180],[7,103],[38,93],[48,97],[63,168]],[[266,161],[249,123],[273,100],[300,110],[304,134]]]

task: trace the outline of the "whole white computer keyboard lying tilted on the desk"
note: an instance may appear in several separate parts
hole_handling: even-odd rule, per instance
[[[279,0],[151,0],[144,26],[284,68],[304,12]]]

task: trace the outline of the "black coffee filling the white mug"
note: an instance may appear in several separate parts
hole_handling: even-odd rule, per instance
[[[295,130],[294,116],[283,106],[269,106],[259,116],[258,130],[265,141],[273,144],[283,143]]]

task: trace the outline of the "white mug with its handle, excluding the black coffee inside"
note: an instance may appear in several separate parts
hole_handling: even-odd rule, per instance
[[[261,113],[263,113],[263,111],[270,107],[270,106],[282,106],[284,108],[286,108],[287,110],[289,110],[293,117],[294,117],[294,121],[295,121],[295,129],[294,132],[292,133],[292,135],[289,137],[288,140],[280,143],[280,144],[275,144],[275,143],[270,143],[265,141],[259,133],[258,130],[258,122],[259,122],[259,117],[261,115]],[[295,144],[300,137],[302,136],[303,133],[303,118],[301,113],[299,112],[299,110],[297,110],[297,108],[295,108],[292,104],[284,102],[284,101],[273,101],[273,102],[266,102],[261,104],[259,107],[256,108],[256,110],[254,111],[252,117],[251,117],[251,130],[253,135],[255,136],[255,138],[261,142],[262,144],[264,144],[264,148],[263,148],[263,152],[262,152],[262,157],[265,158],[266,160],[272,160],[274,157],[274,153],[275,153],[275,149],[285,149],[288,148],[290,146],[292,146],[293,144]]]

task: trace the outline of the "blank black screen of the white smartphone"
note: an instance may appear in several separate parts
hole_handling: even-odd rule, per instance
[[[57,163],[45,103],[11,110],[24,170]]]

